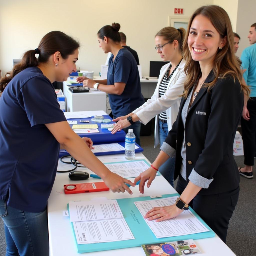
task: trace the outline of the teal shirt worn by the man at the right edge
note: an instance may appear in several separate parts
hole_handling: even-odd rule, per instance
[[[250,86],[250,97],[256,97],[256,43],[243,50],[241,61],[242,68],[246,69],[243,78]]]

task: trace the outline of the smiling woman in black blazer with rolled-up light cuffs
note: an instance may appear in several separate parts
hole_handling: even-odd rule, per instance
[[[140,192],[156,170],[176,155],[174,179],[180,197],[174,205],[154,207],[144,216],[162,221],[188,204],[225,242],[229,219],[238,201],[239,173],[233,141],[249,89],[233,49],[233,32],[224,9],[198,8],[184,41],[187,79],[176,122],[152,166],[138,176]]]

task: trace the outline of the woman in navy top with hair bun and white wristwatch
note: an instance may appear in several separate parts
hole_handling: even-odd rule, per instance
[[[111,52],[107,79],[91,80],[87,77],[78,77],[77,81],[83,86],[98,89],[109,94],[109,103],[114,119],[131,113],[145,101],[141,93],[141,82],[137,63],[126,48],[120,45],[121,37],[118,32],[119,23],[106,25],[98,31],[99,47],[104,53]],[[123,130],[128,133],[133,129],[136,143],[140,145],[141,123],[130,120],[130,125]]]

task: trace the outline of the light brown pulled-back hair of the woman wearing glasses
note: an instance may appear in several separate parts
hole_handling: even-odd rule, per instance
[[[168,42],[173,42],[177,40],[179,42],[179,50],[183,54],[183,40],[185,38],[186,30],[184,28],[176,29],[174,27],[164,27],[158,31],[155,35],[162,36],[164,40]]]

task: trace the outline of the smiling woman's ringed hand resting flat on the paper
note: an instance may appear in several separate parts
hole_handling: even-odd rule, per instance
[[[184,210],[179,209],[175,204],[163,207],[154,207],[144,216],[148,220],[156,220],[156,222],[174,218],[181,214]]]

